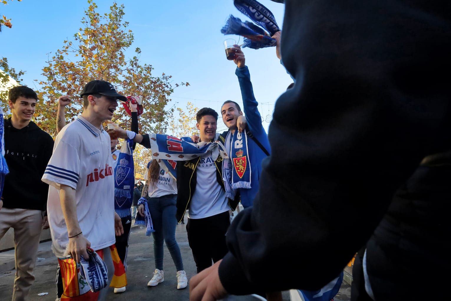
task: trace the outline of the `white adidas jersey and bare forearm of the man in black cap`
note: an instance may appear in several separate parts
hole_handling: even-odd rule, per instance
[[[115,243],[112,166],[110,136],[82,116],[56,136],[42,181],[50,185],[47,214],[57,257],[64,257],[69,242],[60,205],[61,184],[76,190],[78,223],[91,248],[100,250]]]

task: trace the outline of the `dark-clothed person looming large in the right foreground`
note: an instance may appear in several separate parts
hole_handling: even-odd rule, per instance
[[[284,2],[296,84],[276,102],[254,205],[190,300],[314,291],[365,244],[353,300],[447,300],[450,2]]]

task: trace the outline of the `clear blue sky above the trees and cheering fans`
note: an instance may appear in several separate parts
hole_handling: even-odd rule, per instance
[[[34,86],[41,79],[41,69],[49,52],[61,48],[63,41],[73,40],[81,26],[85,0],[8,1],[0,6],[0,14],[11,18],[13,28],[2,28],[0,56],[7,57],[10,67],[27,71],[23,84]],[[109,10],[112,0],[97,0],[97,11]],[[284,5],[261,0],[282,26]],[[229,14],[248,20],[233,5],[233,0],[123,0],[124,20],[130,23],[135,40],[126,52],[140,47],[141,62],[153,65],[153,75],[162,72],[173,76],[173,83],[189,82],[171,95],[169,107],[185,108],[190,101],[196,107],[212,107],[220,111],[222,102],[231,99],[241,103],[236,65],[226,60],[220,30]],[[241,38],[240,43],[243,41]],[[276,58],[275,48],[244,49],[254,94],[263,118],[272,115],[274,103],[292,82]],[[263,121],[267,129],[269,123]],[[223,126],[218,122],[218,129]]]

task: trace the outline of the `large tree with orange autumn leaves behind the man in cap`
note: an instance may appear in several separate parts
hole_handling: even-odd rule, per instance
[[[51,135],[56,134],[56,109],[58,97],[69,95],[72,102],[66,108],[66,120],[72,121],[83,110],[80,93],[83,86],[93,80],[101,79],[112,83],[116,90],[125,95],[142,95],[144,113],[140,117],[140,132],[164,133],[167,117],[171,110],[165,110],[169,96],[174,92],[170,84],[171,76],[153,76],[152,65],[141,64],[141,49],[126,59],[124,51],[133,43],[133,33],[128,30],[129,22],[124,21],[124,5],[114,3],[110,12],[97,13],[97,5],[87,1],[88,9],[81,20],[82,28],[74,34],[73,41],[64,41],[64,46],[49,56],[42,69],[44,80],[38,97],[36,122],[41,129]],[[189,83],[176,83],[188,86]],[[120,106],[122,107],[122,106]],[[124,110],[116,110],[113,122],[123,128],[130,128],[131,118]]]

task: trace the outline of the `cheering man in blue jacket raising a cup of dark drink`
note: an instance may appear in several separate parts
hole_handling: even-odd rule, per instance
[[[221,116],[222,121],[224,121],[224,124],[229,128],[229,131],[225,133],[226,135],[221,134],[220,138],[226,144],[228,152],[230,150],[229,154],[232,159],[230,160],[230,163],[232,164],[231,170],[233,171],[235,169],[235,171],[238,171],[235,173],[235,178],[241,178],[238,180],[244,181],[245,175],[239,172],[239,167],[243,166],[242,164],[240,165],[240,162],[243,161],[242,159],[239,159],[245,158],[247,153],[247,158],[244,159],[247,159],[244,161],[244,169],[248,168],[249,185],[236,185],[237,180],[234,179],[233,181],[235,186],[240,186],[241,204],[246,208],[253,204],[253,199],[258,191],[260,174],[262,172],[262,160],[269,156],[271,149],[268,136],[262,126],[262,119],[260,112],[258,111],[258,102],[255,100],[253,94],[249,69],[244,65],[244,53],[241,51],[240,47],[235,47],[233,50],[236,51],[234,62],[237,65],[237,68],[235,74],[238,77],[239,88],[241,89],[241,96],[243,97],[243,111],[246,116],[247,126],[245,129],[238,126],[240,124],[239,121],[243,118],[240,117],[243,116],[243,111],[241,111],[238,103],[228,100],[224,102],[221,107]],[[239,144],[239,141],[234,138],[236,137],[236,130],[239,131],[238,137],[245,133],[247,145]],[[244,133],[241,133],[243,130]],[[234,141],[233,144],[231,144],[232,139]],[[239,147],[234,150],[235,145],[239,145]],[[245,152],[246,148],[247,152]],[[243,151],[245,152],[244,155],[242,155]],[[238,154],[236,154],[237,152]],[[250,166],[250,169],[249,167],[246,167],[246,165]],[[248,188],[244,188],[244,186],[247,186]]]

